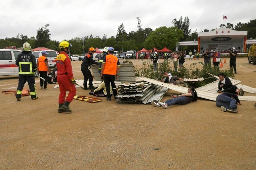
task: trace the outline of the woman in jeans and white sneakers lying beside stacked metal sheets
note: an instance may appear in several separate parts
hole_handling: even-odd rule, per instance
[[[188,88],[188,93],[185,94],[180,94],[180,95],[171,95],[174,99],[168,99],[166,100],[164,103],[162,102],[151,102],[151,105],[153,105],[154,107],[160,107],[163,106],[165,109],[168,106],[171,105],[175,105],[175,104],[179,104],[179,105],[185,105],[187,103],[189,103],[190,101],[196,101],[197,100],[197,94],[196,94],[196,90],[194,87],[189,87]]]

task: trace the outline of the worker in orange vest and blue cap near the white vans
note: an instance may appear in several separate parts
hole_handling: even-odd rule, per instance
[[[40,74],[40,77],[44,78],[44,80],[40,79],[40,89],[43,89],[44,85],[44,90],[47,90],[47,74],[51,72],[49,65],[48,65],[48,59],[46,58],[46,55],[48,55],[46,51],[42,51],[42,56],[40,56],[37,59],[37,70],[38,73]]]

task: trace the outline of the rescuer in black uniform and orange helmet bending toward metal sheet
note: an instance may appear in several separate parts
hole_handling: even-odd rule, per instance
[[[91,64],[99,64],[98,62],[93,61],[92,57],[95,52],[93,47],[89,48],[88,54],[84,57],[81,64],[81,71],[84,75],[84,90],[87,90],[87,81],[89,79],[89,89],[95,90],[96,88],[92,85],[92,73],[90,71]]]

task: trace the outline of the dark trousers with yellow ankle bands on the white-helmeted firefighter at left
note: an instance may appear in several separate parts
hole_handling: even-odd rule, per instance
[[[35,84],[35,77],[33,76],[19,76],[19,84],[17,88],[17,98],[21,98],[21,93],[25,83],[28,82],[29,90],[30,90],[30,97],[31,99],[36,98],[36,84]]]

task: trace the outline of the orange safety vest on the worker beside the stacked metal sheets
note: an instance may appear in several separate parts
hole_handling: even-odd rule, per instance
[[[117,57],[113,54],[106,55],[106,62],[102,74],[116,75]],[[103,62],[104,63],[104,62]]]

